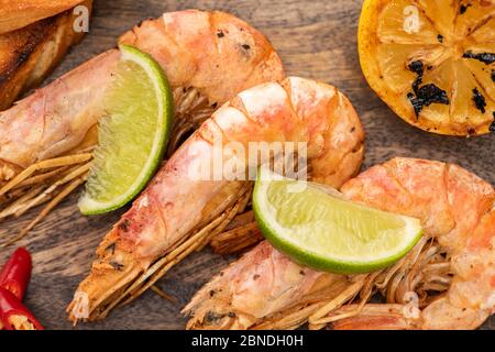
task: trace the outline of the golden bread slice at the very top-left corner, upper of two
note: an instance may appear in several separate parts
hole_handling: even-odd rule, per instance
[[[0,34],[54,16],[84,0],[0,0]]]

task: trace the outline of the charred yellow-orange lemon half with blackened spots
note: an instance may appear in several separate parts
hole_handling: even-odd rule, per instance
[[[422,130],[495,130],[495,0],[365,0],[361,67],[372,89]]]

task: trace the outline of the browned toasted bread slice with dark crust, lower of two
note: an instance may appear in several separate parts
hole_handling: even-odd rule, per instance
[[[91,1],[85,4],[90,9]],[[38,85],[81,40],[84,33],[74,32],[73,20],[70,9],[0,35],[0,111]]]

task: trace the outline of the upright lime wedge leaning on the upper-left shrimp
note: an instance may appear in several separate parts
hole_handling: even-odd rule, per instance
[[[121,61],[105,92],[99,145],[79,200],[84,215],[123,207],[153,177],[165,152],[173,97],[160,65],[146,53],[120,45]]]

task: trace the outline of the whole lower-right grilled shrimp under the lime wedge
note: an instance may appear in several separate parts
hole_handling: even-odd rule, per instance
[[[309,320],[315,329],[474,329],[494,312],[490,184],[457,165],[394,158],[341,191],[420,219],[426,234],[394,266],[350,276],[299,266],[263,242],[199,290],[184,310],[188,328],[292,329]],[[367,304],[376,290],[387,304]]]

